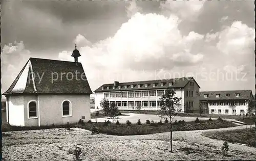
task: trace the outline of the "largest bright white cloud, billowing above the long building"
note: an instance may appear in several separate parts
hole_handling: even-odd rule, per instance
[[[110,70],[117,67],[131,70],[171,69],[174,65],[187,66],[200,62],[203,56],[193,48],[202,44],[204,36],[195,32],[183,36],[178,25],[179,18],[176,16],[136,13],[121,25],[113,37],[92,46],[80,47],[80,53],[86,56],[84,62],[87,65],[94,62]],[[78,35],[75,41],[83,39]],[[67,52],[60,53],[61,59],[64,53]]]

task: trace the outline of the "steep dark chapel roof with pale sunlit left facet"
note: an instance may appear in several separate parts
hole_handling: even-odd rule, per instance
[[[92,94],[92,90],[81,63],[30,58],[4,93],[10,94]]]

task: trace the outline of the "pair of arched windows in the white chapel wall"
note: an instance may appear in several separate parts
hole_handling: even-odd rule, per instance
[[[61,103],[62,116],[71,116],[71,102],[69,100],[64,100]],[[32,100],[28,103],[28,118],[37,118],[37,103]]]

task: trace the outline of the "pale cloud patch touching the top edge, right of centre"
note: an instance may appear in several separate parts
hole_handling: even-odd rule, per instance
[[[203,1],[164,1],[160,7],[163,11],[174,14],[182,20],[197,20],[202,12],[205,0]]]

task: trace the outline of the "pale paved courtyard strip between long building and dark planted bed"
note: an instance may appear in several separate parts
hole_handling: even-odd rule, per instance
[[[158,115],[146,115],[146,114],[134,114],[134,113],[129,113],[129,114],[125,114],[125,115],[129,115],[129,116],[119,116],[116,117],[115,121],[118,120],[120,123],[126,123],[127,120],[131,121],[132,123],[137,123],[138,119],[140,119],[141,123],[146,122],[146,120],[150,120],[150,121],[155,121],[155,122],[159,122],[160,121],[160,117]],[[199,120],[208,120],[209,118],[199,118]],[[91,119],[93,122],[95,121],[95,119]],[[104,121],[108,121],[110,120],[110,118],[98,118],[97,122],[104,122]],[[181,116],[175,116],[173,121],[179,121],[179,120],[185,120],[186,122],[189,121],[195,121],[196,117],[181,117]],[[212,118],[212,120],[217,120],[216,118]],[[234,119],[224,119],[227,121],[233,121]],[[110,120],[112,122],[112,120]],[[164,121],[164,119],[162,119],[162,121]]]

